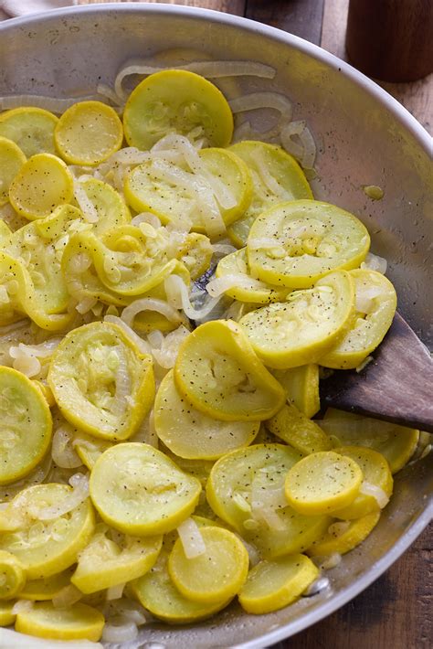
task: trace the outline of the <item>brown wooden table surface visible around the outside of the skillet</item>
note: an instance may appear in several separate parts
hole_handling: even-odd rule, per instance
[[[79,0],[78,4],[106,1]],[[165,2],[247,16],[306,38],[346,59],[344,35],[348,0]],[[433,74],[413,83],[381,85],[432,133]],[[433,526],[430,526],[405,555],[361,595],[307,631],[276,645],[275,649],[430,649],[433,647],[432,548]]]

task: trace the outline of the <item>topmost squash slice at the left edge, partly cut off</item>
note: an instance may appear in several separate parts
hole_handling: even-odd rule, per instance
[[[42,108],[14,108],[0,114],[0,136],[13,140],[21,151],[35,154],[56,154],[54,129],[58,118]]]

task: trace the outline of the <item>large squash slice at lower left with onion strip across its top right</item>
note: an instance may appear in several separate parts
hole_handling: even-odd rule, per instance
[[[29,580],[45,579],[69,568],[93,534],[89,498],[72,511],[57,515],[71,494],[67,484],[28,487],[2,512],[2,523],[6,521],[13,529],[0,535],[0,549],[21,561]]]

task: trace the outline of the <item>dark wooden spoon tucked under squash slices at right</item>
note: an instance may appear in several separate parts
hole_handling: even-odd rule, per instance
[[[374,360],[361,372],[336,370],[321,381],[321,403],[433,432],[433,360],[396,314]]]

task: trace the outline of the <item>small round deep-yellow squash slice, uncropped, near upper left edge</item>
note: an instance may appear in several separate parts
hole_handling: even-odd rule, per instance
[[[9,200],[29,220],[48,217],[59,205],[70,203],[73,177],[56,155],[36,154],[22,165],[9,188]]]

